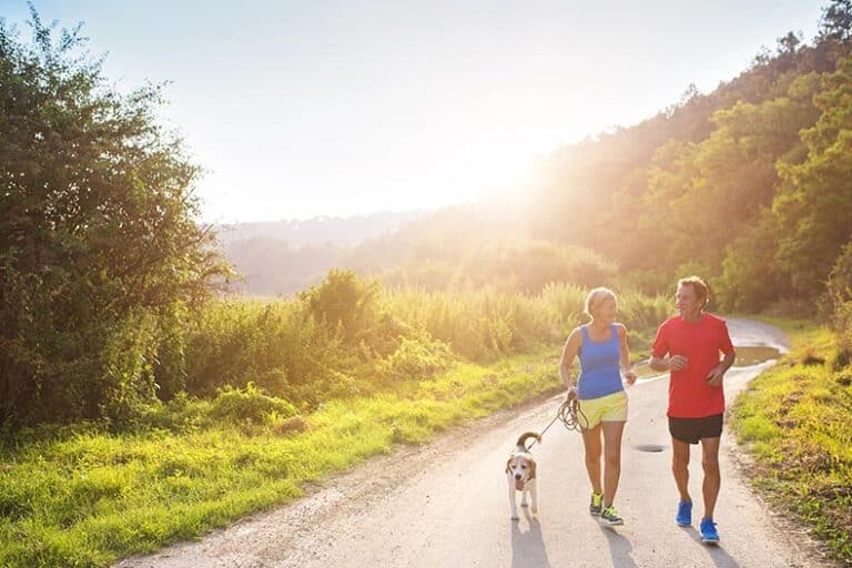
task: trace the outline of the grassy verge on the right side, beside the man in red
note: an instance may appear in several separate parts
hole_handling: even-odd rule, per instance
[[[752,483],[768,500],[852,564],[852,367],[838,364],[831,331],[767,321],[790,335],[791,352],[738,397],[733,429],[755,456]]]

